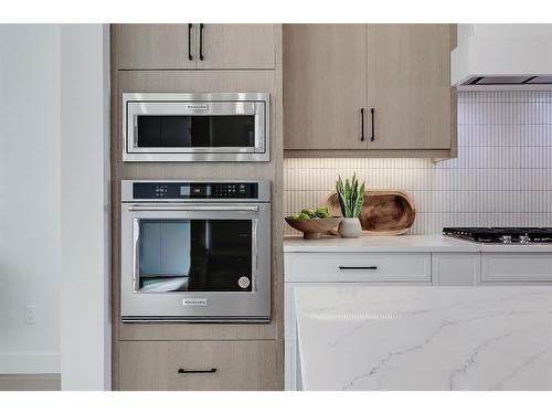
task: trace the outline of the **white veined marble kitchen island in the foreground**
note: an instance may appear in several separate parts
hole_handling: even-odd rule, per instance
[[[296,287],[302,390],[552,390],[552,287]]]

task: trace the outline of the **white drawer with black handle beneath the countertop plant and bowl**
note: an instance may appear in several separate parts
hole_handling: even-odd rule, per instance
[[[431,283],[429,253],[287,253],[286,282]]]

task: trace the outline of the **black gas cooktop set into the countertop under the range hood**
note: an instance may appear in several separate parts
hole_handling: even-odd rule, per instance
[[[479,243],[552,243],[552,227],[444,227],[443,234]]]

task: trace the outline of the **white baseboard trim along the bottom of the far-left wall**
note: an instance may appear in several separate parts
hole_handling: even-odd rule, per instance
[[[55,374],[60,353],[0,353],[0,374]]]

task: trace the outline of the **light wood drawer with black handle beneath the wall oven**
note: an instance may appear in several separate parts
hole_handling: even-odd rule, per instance
[[[120,390],[277,389],[275,341],[121,341],[119,352]]]

